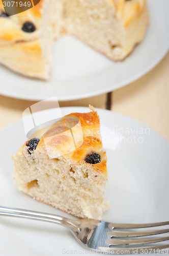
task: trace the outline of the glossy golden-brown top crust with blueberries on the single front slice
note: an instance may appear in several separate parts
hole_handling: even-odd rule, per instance
[[[23,144],[18,154],[23,154],[25,147],[29,151],[29,141],[35,138],[30,143],[28,154],[35,157],[46,154],[50,159],[87,164],[94,172],[106,178],[106,153],[101,141],[100,120],[94,108],[90,108],[92,112],[69,114],[37,131]]]

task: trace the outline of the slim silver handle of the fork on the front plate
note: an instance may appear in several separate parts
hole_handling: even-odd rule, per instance
[[[57,223],[62,226],[70,228],[70,230],[74,232],[77,231],[77,226],[79,225],[79,220],[71,220],[59,215],[45,214],[39,211],[30,211],[18,208],[9,208],[4,206],[0,206],[0,216],[11,216]]]

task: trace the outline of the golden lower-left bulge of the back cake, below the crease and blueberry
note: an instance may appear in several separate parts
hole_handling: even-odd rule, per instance
[[[0,47],[0,63],[26,76],[47,79],[49,75],[39,39]]]

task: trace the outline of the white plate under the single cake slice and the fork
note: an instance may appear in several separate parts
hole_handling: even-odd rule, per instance
[[[61,110],[63,115],[89,111],[80,107]],[[134,119],[106,110],[98,110],[98,113],[109,178],[105,197],[110,200],[110,208],[103,220],[121,223],[168,221],[169,143]],[[43,112],[38,115],[43,116]],[[0,139],[0,205],[72,218],[24,195],[13,185],[10,155],[25,141],[22,120],[2,130]],[[89,253],[62,226],[10,217],[0,217],[0,244],[3,256],[56,256],[64,254],[65,250],[66,254],[71,254],[71,250]]]

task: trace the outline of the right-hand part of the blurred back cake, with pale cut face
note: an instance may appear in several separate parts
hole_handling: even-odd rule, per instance
[[[125,59],[143,40],[149,23],[145,0],[65,0],[64,8],[68,33],[115,61]]]

